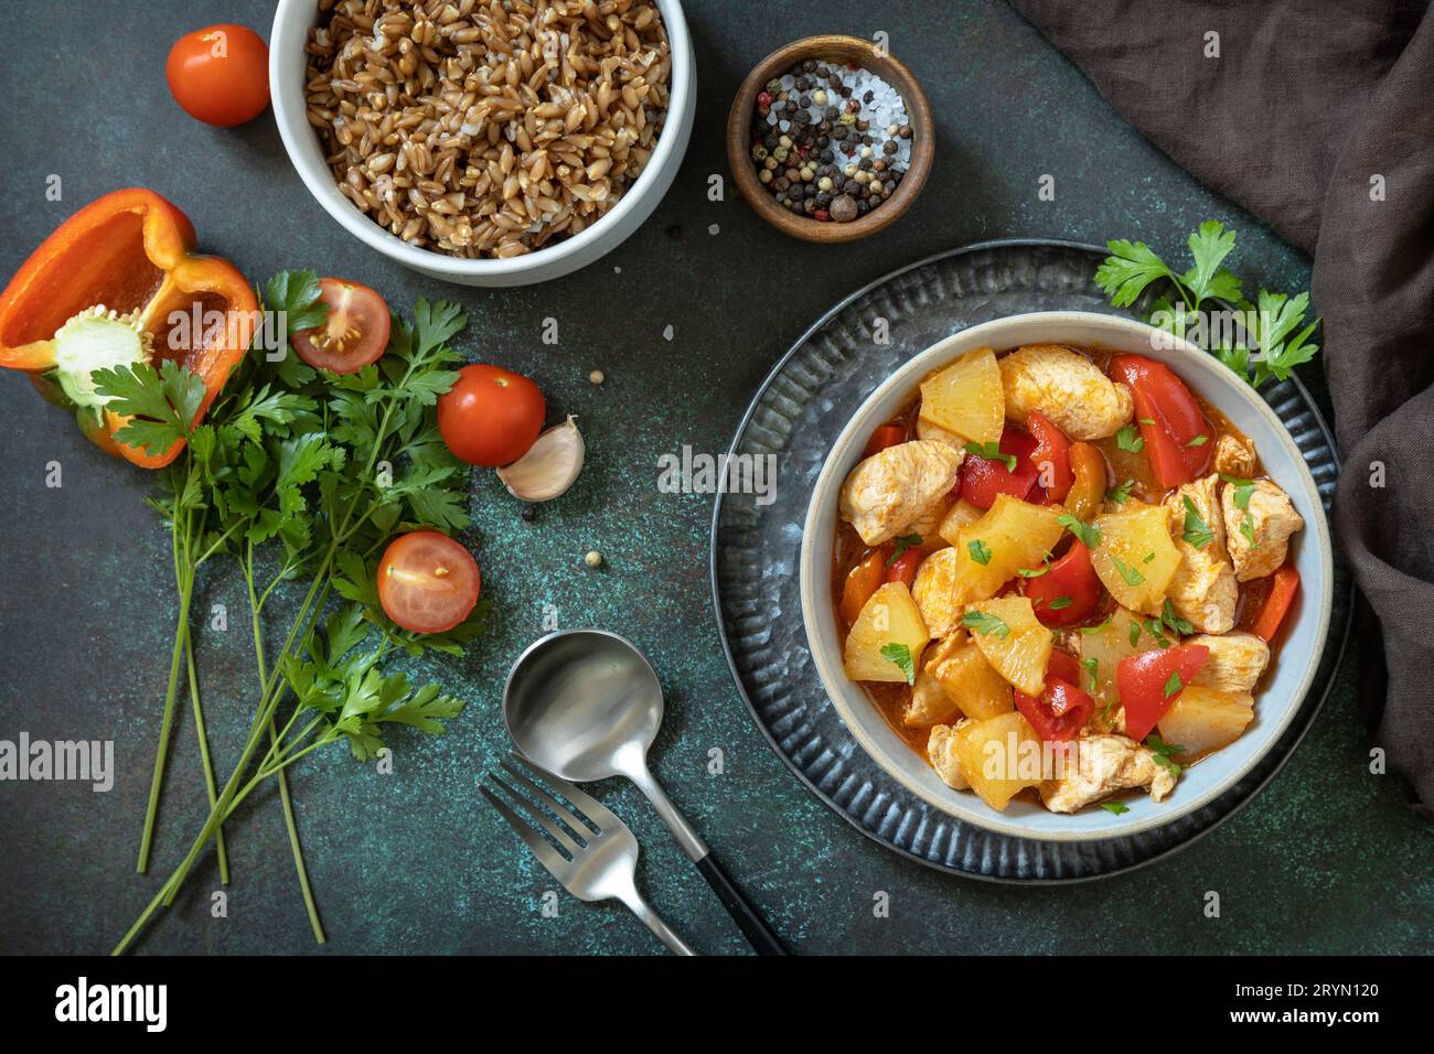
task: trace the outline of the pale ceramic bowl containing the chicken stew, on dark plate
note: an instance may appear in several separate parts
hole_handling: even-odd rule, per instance
[[[1289,726],[1314,681],[1329,631],[1334,594],[1329,525],[1315,480],[1265,400],[1193,344],[1179,341],[1173,348],[1153,347],[1156,333],[1143,323],[1087,311],[1038,311],[962,330],[922,351],[872,393],[837,436],[817,476],[802,536],[802,617],[827,695],[858,743],[882,769],[936,809],[978,827],[1017,837],[1086,842],[1170,823],[1219,797],[1253,769]],[[1094,807],[1065,816],[1022,799],[997,812],[974,792],[949,789],[926,760],[892,731],[862,687],[846,680],[842,671],[842,634],[832,602],[832,543],[842,482],[862,459],[872,429],[908,404],[925,374],[961,354],[978,347],[1004,351],[1038,343],[1134,351],[1167,363],[1255,442],[1265,470],[1289,492],[1305,518],[1305,529],[1291,542],[1291,556],[1299,569],[1299,597],[1292,624],[1282,631],[1272,668],[1255,695],[1255,720],[1235,743],[1187,767],[1164,802],[1131,796],[1126,800],[1130,812],[1121,816]]]

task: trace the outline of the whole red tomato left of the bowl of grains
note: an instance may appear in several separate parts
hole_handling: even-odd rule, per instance
[[[165,77],[191,118],[242,125],[268,106],[268,46],[248,26],[206,26],[175,40]]]

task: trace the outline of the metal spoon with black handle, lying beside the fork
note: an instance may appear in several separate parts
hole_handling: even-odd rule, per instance
[[[632,780],[751,946],[763,955],[787,954],[652,779],[647,751],[663,724],[663,685],[632,644],[602,630],[564,630],[533,641],[503,685],[503,724],[518,750],[555,776],[576,783]]]

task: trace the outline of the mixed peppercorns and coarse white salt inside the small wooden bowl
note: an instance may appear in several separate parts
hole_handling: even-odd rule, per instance
[[[860,66],[807,59],[757,95],[751,161],[783,208],[849,224],[901,185],[911,139],[891,85]]]

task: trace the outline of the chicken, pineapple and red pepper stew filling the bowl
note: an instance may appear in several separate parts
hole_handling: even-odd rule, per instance
[[[1302,528],[1163,363],[981,348],[929,374],[842,486],[846,675],[992,809],[1159,802],[1253,720]]]

